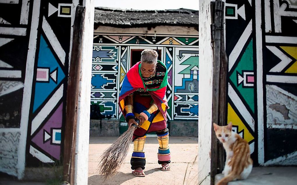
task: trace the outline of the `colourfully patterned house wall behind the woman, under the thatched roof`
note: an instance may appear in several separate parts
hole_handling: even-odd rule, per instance
[[[181,34],[174,34],[175,29]],[[143,49],[156,49],[168,69],[168,120],[198,120],[198,31],[172,26],[146,31],[104,26],[94,31],[91,104],[98,104],[103,115],[124,121],[118,106],[124,76],[133,61],[140,61]]]

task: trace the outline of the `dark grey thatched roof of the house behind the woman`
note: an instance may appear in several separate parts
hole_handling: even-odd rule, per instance
[[[188,26],[198,27],[198,11],[191,9],[134,10],[95,7],[94,27],[117,28]]]

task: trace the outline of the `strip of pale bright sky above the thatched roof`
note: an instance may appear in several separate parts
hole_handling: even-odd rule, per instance
[[[111,7],[119,9],[164,10],[164,9],[194,9],[199,10],[199,0],[94,0],[95,7]]]

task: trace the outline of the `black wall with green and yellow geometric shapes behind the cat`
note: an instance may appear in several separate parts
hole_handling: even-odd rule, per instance
[[[226,0],[228,122],[260,165],[297,164],[297,3]]]

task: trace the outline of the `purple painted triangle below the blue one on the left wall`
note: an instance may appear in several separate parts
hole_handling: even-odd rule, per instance
[[[63,103],[57,108],[50,119],[45,123],[45,125],[37,131],[38,133],[33,137],[32,141],[37,144],[41,149],[43,149],[50,156],[60,160],[61,146],[50,144],[52,138],[43,143],[43,133],[44,130],[51,134],[50,128],[61,128],[62,127],[62,113],[63,113]],[[43,152],[43,151],[41,151]]]

